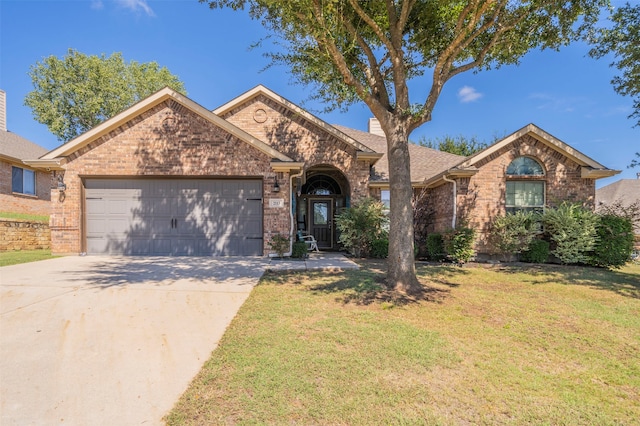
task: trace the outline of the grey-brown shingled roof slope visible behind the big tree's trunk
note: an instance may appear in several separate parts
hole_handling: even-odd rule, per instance
[[[334,127],[351,136],[353,139],[356,139],[363,145],[383,154],[382,158],[380,158],[374,166],[375,174],[371,178],[371,183],[374,184],[374,186],[375,184],[387,184],[389,182],[387,139],[384,136],[351,129],[345,126],[334,125]],[[429,179],[430,177],[433,177],[466,159],[466,157],[461,155],[450,154],[448,152],[427,148],[413,143],[409,144],[409,156],[411,159],[411,182],[413,182],[414,186],[419,186],[426,179]]]

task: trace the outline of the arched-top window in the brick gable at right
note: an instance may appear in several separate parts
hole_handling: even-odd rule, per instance
[[[507,167],[507,213],[542,211],[545,202],[544,168],[531,157],[517,157]]]

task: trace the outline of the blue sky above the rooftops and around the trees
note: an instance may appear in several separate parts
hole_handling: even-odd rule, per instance
[[[614,1],[622,4],[622,1]],[[29,67],[69,48],[85,54],[122,52],[125,60],[156,61],[178,75],[188,96],[214,109],[257,84],[264,84],[332,124],[366,130],[363,105],[323,114],[305,102],[309,89],[292,85],[283,67],[262,71],[263,50],[249,46],[265,33],[244,12],[209,10],[197,0],[0,0],[0,88],[7,92],[7,127],[47,149],[59,145],[23,105],[33,89]],[[588,46],[560,52],[534,51],[519,66],[466,73],[445,86],[433,120],[412,140],[445,135],[492,140],[534,123],[605,166],[622,173],[640,151],[640,128],[632,127],[632,103],[610,84],[611,58],[594,60]],[[413,102],[428,90],[416,86]]]

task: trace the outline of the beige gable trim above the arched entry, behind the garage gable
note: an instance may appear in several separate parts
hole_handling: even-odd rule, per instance
[[[232,109],[238,107],[239,105],[242,105],[243,103],[256,98],[258,96],[265,96],[269,99],[271,99],[272,101],[284,106],[285,108],[289,109],[290,111],[294,112],[296,115],[299,115],[301,117],[303,117],[305,120],[313,123],[314,125],[318,126],[319,128],[321,128],[322,130],[326,131],[327,133],[333,135],[334,137],[346,142],[348,145],[353,146],[357,151],[358,151],[358,158],[361,159],[369,159],[369,160],[373,160],[374,162],[377,161],[382,155],[379,152],[376,152],[374,150],[372,150],[370,147],[362,144],[360,141],[354,139],[353,137],[351,137],[348,134],[345,134],[344,132],[340,131],[340,128],[338,126],[332,126],[329,123],[327,123],[326,121],[316,117],[315,115],[311,114],[310,112],[300,108],[298,105],[294,104],[293,102],[285,99],[284,97],[278,95],[277,93],[275,93],[274,91],[268,89],[267,87],[259,84],[256,87],[254,87],[253,89],[243,93],[242,95],[230,100],[229,102],[225,103],[224,105],[219,106],[218,108],[213,110],[213,113],[219,116],[223,116],[224,114],[226,114],[227,112],[231,111]]]

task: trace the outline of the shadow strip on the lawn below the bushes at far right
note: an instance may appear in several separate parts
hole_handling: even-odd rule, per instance
[[[624,297],[640,299],[640,276],[638,274],[573,265],[505,266],[503,271],[506,273],[528,273],[533,277],[532,284],[583,285],[612,291]]]

